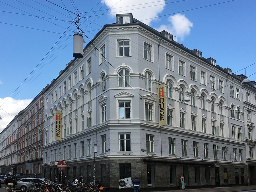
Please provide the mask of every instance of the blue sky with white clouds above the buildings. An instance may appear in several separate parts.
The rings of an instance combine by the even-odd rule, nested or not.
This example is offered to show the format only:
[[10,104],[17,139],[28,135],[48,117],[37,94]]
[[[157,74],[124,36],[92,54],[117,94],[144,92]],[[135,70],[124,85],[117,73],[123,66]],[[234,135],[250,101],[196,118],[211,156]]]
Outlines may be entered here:
[[[243,69],[237,75],[256,63],[255,0],[0,0],[0,131],[73,60],[78,11],[90,39],[104,24],[115,23],[115,14],[133,13],[221,67]],[[255,69],[256,64],[246,68],[246,75]]]

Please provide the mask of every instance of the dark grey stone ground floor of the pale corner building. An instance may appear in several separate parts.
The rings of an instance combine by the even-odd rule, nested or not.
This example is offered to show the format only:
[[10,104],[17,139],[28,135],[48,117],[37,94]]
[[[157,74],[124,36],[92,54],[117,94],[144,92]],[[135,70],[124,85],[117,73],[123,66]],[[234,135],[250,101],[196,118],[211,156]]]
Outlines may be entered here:
[[[44,177],[54,181],[60,178],[57,166],[43,165]],[[64,183],[73,177],[84,182],[93,180],[93,161],[67,162],[63,171]],[[184,176],[186,188],[248,185],[245,163],[212,162],[188,159],[157,159],[153,157],[95,160],[95,178],[110,191],[119,191],[119,179],[139,177],[141,191],[171,190],[179,188],[179,176]],[[122,191],[130,189],[122,189]]]

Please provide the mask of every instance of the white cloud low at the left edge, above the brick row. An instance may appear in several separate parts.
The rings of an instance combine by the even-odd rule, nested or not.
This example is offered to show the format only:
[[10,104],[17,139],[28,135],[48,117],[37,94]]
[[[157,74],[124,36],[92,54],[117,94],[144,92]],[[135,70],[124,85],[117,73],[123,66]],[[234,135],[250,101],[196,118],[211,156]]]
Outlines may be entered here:
[[[0,98],[1,111],[0,115],[0,132],[13,120],[13,118],[25,109],[33,99],[14,100],[10,97]],[[5,112],[5,111],[6,112]],[[8,114],[9,113],[9,114]]]

